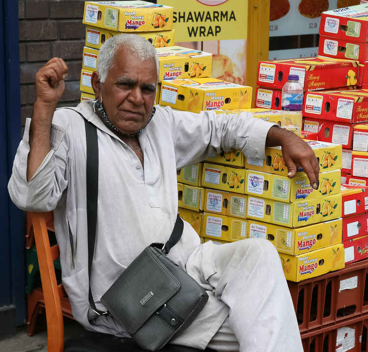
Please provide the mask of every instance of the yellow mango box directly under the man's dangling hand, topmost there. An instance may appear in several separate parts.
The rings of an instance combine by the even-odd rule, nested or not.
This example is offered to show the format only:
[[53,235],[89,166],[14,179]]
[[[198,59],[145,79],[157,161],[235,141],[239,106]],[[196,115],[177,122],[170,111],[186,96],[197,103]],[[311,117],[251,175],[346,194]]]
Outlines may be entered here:
[[[327,172],[340,170],[342,168],[342,145],[328,142],[309,141],[307,144],[315,152],[319,161],[319,171]],[[288,175],[281,147],[267,147],[265,149],[266,159],[245,158],[245,167],[256,171],[263,171],[276,175]],[[303,168],[297,165],[297,176],[305,175]]]

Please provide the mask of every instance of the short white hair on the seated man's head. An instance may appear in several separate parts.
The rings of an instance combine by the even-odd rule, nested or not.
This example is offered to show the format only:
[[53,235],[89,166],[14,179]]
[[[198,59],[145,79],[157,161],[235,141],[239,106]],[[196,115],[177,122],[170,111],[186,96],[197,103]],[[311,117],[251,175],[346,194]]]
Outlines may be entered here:
[[101,46],[97,63],[97,73],[101,83],[104,83],[109,70],[114,64],[116,50],[124,48],[141,61],[154,59],[158,76],[158,56],[154,46],[145,38],[137,34],[115,35]]

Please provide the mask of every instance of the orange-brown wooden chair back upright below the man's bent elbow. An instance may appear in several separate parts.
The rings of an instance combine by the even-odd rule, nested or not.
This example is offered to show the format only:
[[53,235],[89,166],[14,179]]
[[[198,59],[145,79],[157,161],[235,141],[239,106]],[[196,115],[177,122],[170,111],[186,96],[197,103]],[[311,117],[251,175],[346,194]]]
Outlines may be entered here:
[[47,319],[47,342],[49,352],[64,351],[64,324],[60,297],[63,287],[58,285],[53,261],[60,256],[57,245],[50,246],[48,227],[53,222],[53,212],[28,212],[27,218],[33,227],[36,242],[38,264],[45,301]]

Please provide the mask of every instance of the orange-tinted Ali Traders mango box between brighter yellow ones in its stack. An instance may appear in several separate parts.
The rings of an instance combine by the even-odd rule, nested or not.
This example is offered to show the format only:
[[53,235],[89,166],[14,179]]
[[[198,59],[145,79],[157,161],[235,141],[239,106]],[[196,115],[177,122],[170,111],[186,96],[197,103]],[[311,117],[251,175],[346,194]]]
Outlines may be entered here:
[[237,193],[206,189],[204,210],[236,218],[247,216],[247,196]]

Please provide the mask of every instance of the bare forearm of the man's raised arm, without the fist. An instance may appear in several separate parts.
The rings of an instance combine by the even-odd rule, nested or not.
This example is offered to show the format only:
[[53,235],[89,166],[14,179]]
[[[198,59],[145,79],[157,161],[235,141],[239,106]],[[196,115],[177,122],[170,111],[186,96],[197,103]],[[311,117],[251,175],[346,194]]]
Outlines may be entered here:
[[45,156],[51,151],[50,133],[55,106],[34,103],[29,132],[29,153],[27,159],[27,181],[35,174]]

